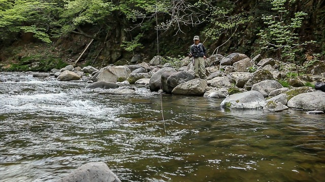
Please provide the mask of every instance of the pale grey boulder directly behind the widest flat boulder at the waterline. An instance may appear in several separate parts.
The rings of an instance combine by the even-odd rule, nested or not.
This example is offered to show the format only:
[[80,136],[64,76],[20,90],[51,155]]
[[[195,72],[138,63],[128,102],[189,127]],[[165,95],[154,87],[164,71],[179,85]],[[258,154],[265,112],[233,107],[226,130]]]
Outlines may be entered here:
[[268,97],[269,94],[275,90],[283,88],[283,86],[276,80],[263,80],[259,83],[255,83],[251,90],[256,90],[263,94],[264,97]]

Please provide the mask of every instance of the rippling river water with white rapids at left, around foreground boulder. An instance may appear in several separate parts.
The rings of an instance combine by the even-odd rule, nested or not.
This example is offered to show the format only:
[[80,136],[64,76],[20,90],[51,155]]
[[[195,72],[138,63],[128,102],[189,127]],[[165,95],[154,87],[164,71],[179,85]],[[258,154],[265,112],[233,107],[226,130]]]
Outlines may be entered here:
[[324,115],[222,109],[139,86],[98,95],[32,73],[0,80],[0,181],[55,181],[98,161],[122,181],[325,181]]

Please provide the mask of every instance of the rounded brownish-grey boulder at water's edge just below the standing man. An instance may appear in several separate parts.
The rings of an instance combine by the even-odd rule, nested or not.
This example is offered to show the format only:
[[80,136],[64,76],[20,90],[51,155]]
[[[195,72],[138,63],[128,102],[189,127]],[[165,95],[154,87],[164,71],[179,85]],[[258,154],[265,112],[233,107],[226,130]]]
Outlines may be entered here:
[[203,96],[207,86],[206,80],[197,78],[177,85],[173,89],[172,94]]

